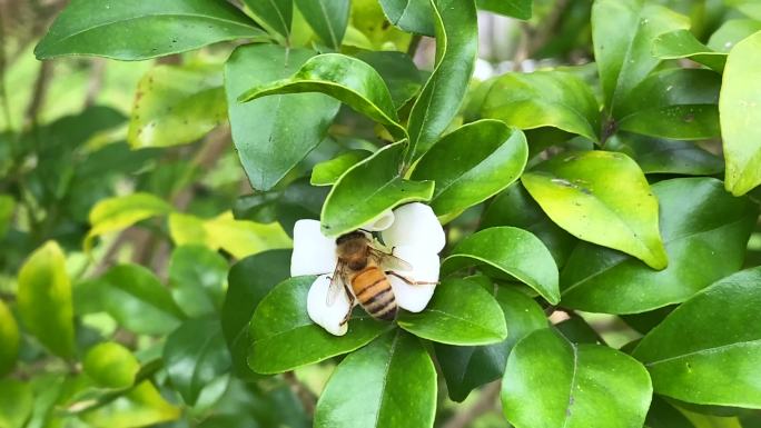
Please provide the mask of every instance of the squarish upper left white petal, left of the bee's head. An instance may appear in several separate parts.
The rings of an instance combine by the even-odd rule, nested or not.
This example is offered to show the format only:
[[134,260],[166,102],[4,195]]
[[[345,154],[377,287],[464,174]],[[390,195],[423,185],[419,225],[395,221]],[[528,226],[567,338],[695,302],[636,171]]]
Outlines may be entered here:
[[290,276],[333,273],[337,262],[336,240],[319,231],[319,221],[296,221]]

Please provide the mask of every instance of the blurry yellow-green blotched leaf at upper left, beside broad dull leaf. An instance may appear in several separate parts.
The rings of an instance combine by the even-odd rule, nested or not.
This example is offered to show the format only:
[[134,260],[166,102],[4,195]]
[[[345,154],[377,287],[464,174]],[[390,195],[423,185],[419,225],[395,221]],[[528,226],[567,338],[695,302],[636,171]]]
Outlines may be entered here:
[[185,145],[226,119],[219,67],[158,66],[138,83],[127,139],[135,149]]

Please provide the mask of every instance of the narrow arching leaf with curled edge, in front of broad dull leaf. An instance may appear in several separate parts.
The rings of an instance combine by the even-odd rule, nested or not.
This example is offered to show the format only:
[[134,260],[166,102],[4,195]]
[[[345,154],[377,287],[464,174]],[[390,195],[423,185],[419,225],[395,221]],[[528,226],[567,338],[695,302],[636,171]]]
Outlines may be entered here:
[[398,123],[394,101],[381,74],[368,63],[340,53],[313,57],[294,76],[257,84],[240,94],[238,101],[304,92],[329,94],[382,123],[395,138],[406,138],[407,133]]

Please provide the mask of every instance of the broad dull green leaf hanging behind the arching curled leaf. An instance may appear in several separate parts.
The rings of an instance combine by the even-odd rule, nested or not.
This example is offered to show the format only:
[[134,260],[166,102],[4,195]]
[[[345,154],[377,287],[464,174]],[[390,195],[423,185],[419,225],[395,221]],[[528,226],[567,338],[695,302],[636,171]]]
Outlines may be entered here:
[[340,103],[322,93],[299,93],[238,102],[259,84],[284,79],[315,52],[274,44],[238,47],[225,64],[225,91],[233,141],[248,180],[269,190],[317,147]]

